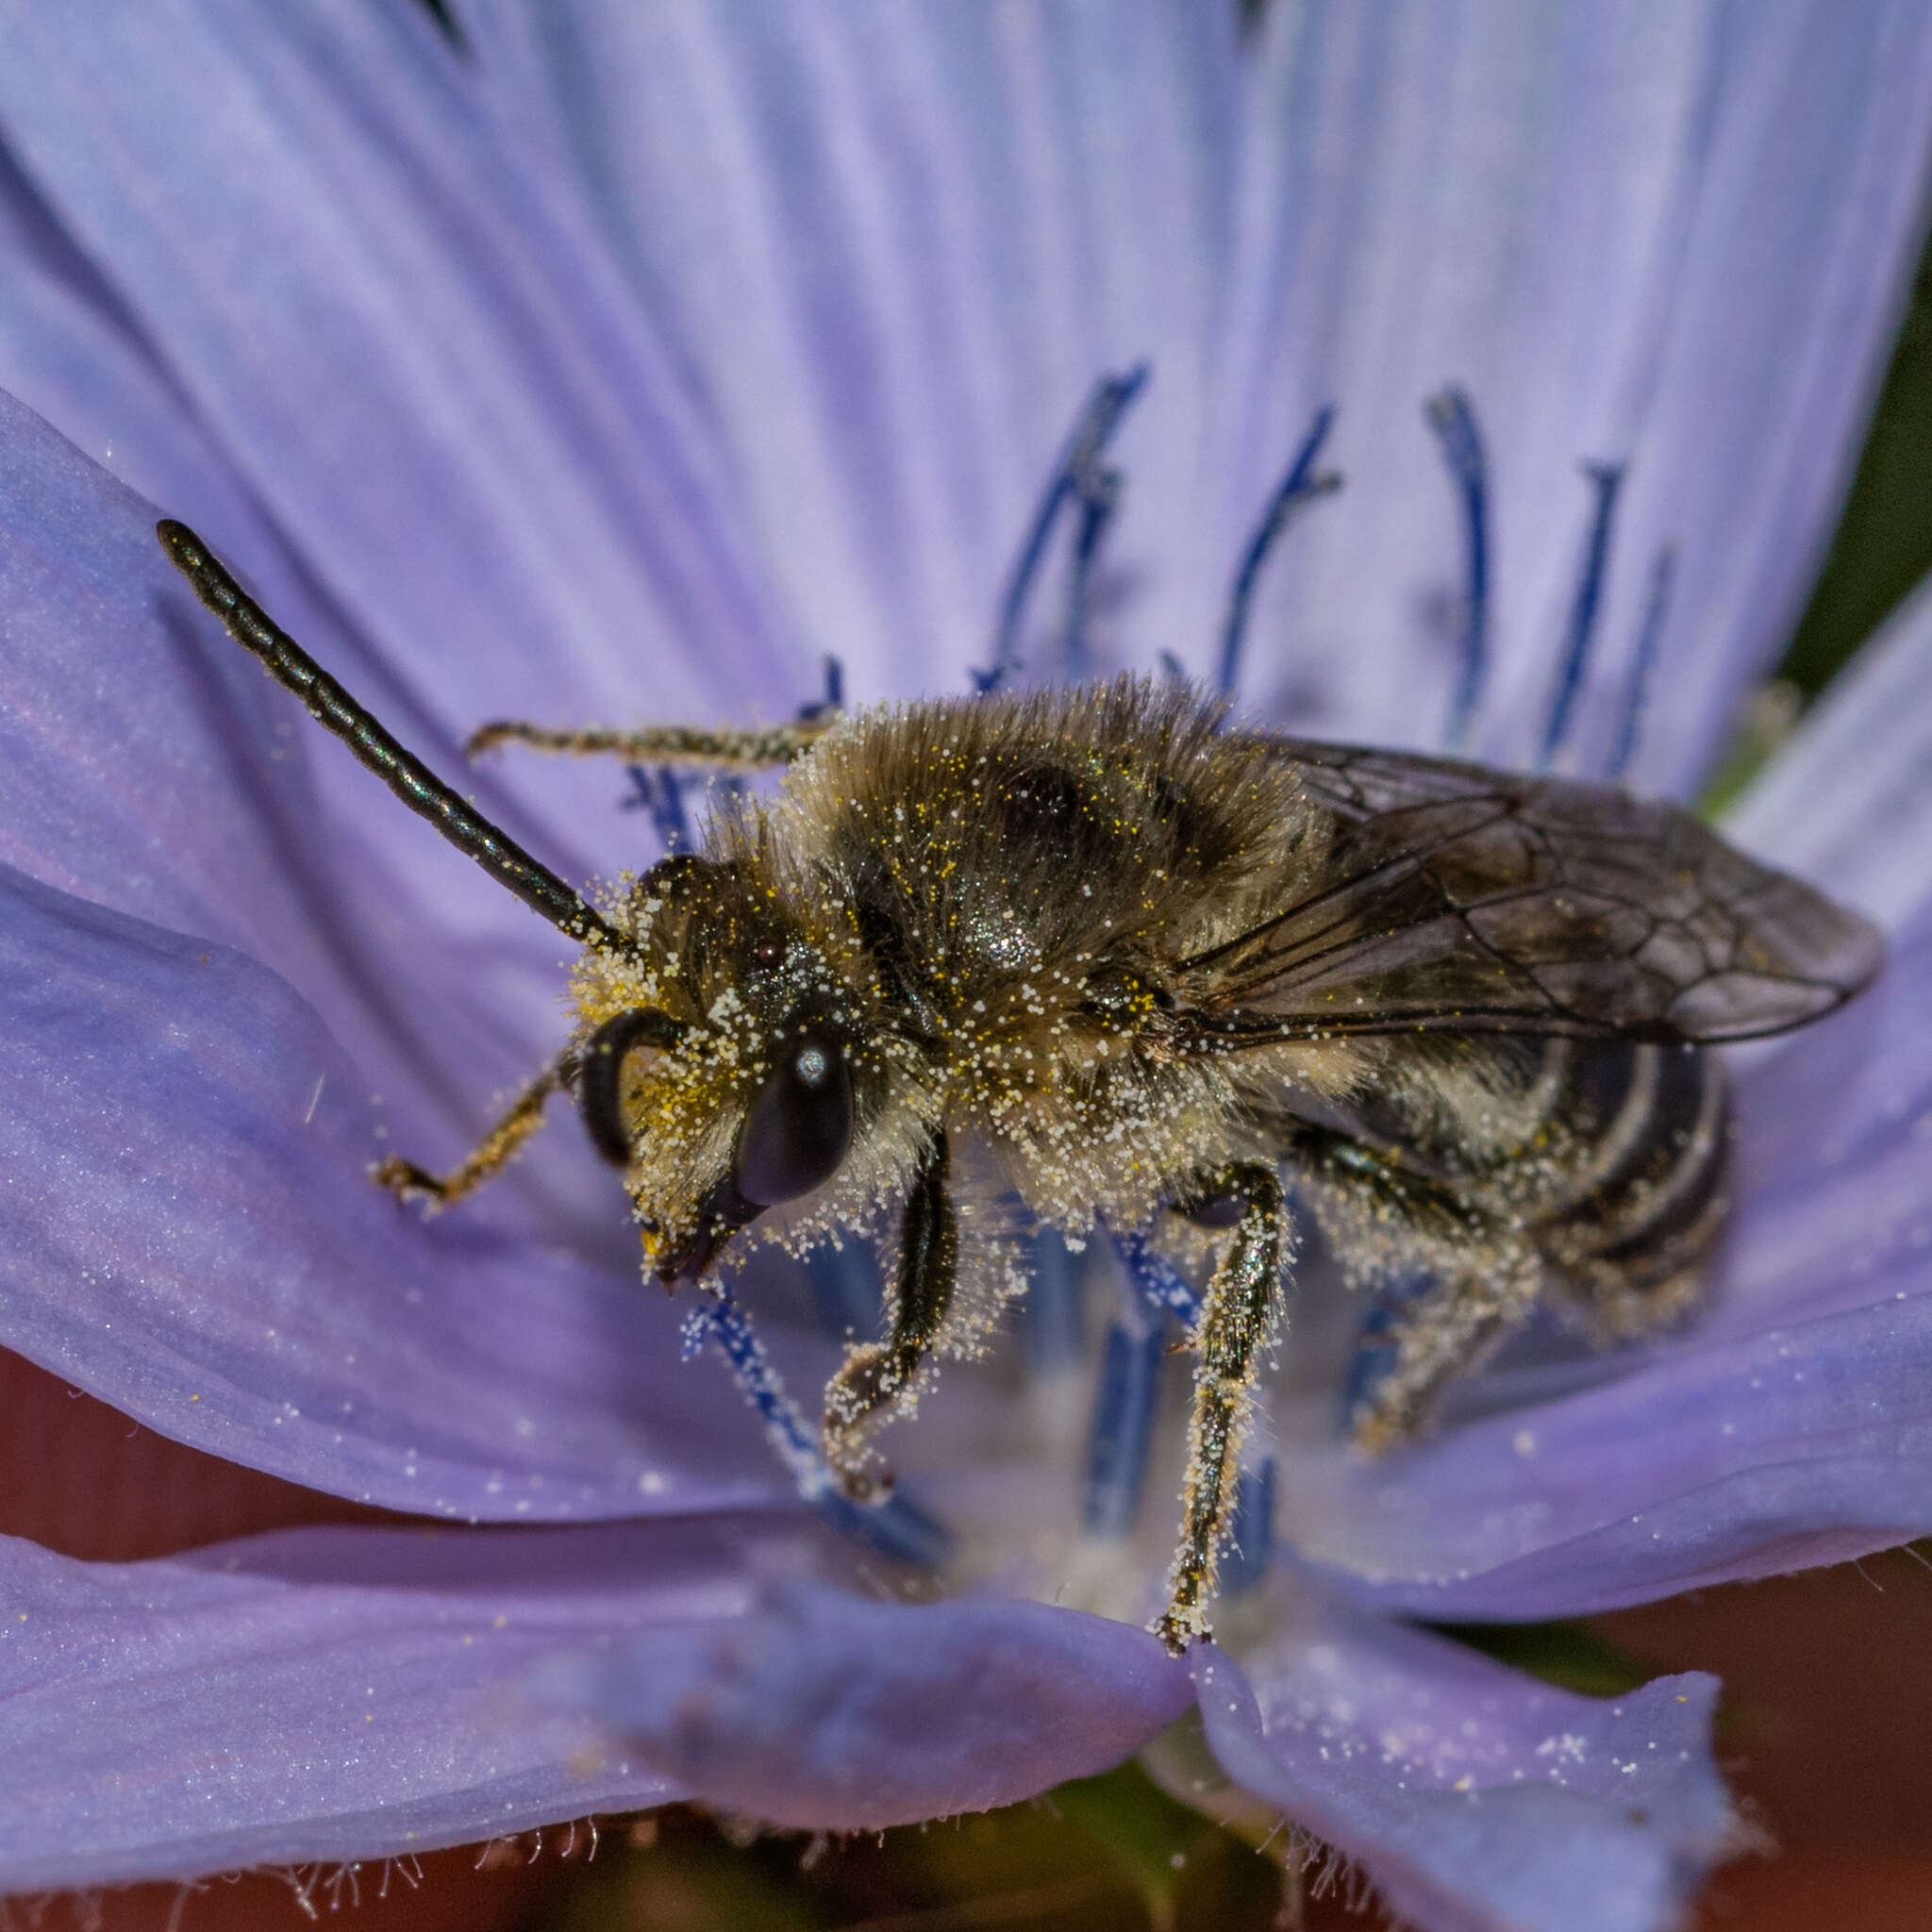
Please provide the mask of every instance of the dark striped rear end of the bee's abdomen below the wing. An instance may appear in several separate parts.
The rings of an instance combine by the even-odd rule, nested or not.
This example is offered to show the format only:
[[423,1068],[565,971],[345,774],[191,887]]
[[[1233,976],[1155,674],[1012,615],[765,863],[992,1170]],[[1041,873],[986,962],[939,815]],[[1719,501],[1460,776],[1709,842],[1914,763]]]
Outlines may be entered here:
[[1573,1047],[1551,1070],[1551,1113],[1577,1138],[1532,1235],[1605,1329],[1638,1333],[1689,1304],[1723,1231],[1723,1065],[1696,1049],[1605,1045]]

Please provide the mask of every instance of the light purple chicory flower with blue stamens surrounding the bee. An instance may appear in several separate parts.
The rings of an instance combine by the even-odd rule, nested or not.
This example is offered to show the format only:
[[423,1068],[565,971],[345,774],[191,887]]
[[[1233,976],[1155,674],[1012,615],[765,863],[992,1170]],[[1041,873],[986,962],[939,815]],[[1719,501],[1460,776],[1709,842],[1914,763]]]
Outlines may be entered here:
[[[89,0],[10,39],[0,1339],[160,1434],[477,1526],[0,1548],[0,1884],[686,1793],[873,1826],[1198,1710],[1424,1926],[1663,1924],[1725,1833],[1710,1681],[1596,1704],[1385,1613],[1577,1613],[1932,1520],[1932,879],[1889,696],[1924,622],[1741,821],[1895,954],[1748,1070],[1712,1314],[1492,1381],[1507,1406],[1379,1464],[1291,1387],[1294,1569],[1190,1671],[1051,1604],[1076,1569],[1117,1602],[1163,1542],[1080,1542],[1074,1370],[949,1370],[895,1453],[978,1588],[879,1602],[680,1364],[576,1136],[427,1227],[369,1188],[379,1136],[456,1153],[554,1049],[558,947],[315,742],[151,526],[201,527],[444,771],[493,715],[784,713],[823,651],[856,697],[960,690],[1080,398],[1146,359],[1097,661],[1211,668],[1333,402],[1349,491],[1260,580],[1246,703],[1631,750],[1683,792],[1804,587],[1918,240],[1918,12],[1277,8],[1244,39],[1151,0],[477,0],[452,46],[400,0]],[[1580,458],[1625,468],[1592,495]],[[572,877],[641,838],[580,769],[466,782]],[[831,1347],[761,1314],[810,1387]]]

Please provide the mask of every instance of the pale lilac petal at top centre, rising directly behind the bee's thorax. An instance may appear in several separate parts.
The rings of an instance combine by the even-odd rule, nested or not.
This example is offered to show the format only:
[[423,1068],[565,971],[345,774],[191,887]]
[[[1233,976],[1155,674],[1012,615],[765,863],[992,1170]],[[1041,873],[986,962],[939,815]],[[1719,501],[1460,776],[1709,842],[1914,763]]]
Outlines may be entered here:
[[[1227,272],[1233,8],[469,19],[487,85],[701,371],[794,624],[856,694],[987,661],[1082,398],[1142,357],[1109,554],[1136,587],[1171,568]],[[1169,641],[1136,639],[1142,665]]]

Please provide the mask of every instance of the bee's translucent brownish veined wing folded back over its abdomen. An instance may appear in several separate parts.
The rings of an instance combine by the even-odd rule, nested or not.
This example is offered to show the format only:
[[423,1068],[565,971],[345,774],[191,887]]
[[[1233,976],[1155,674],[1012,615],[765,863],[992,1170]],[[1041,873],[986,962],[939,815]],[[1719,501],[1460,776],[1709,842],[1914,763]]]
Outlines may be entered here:
[[1182,962],[1202,1045],[1507,1032],[1710,1043],[1803,1026],[1878,931],[1687,811],[1615,786],[1291,738],[1337,819],[1294,902]]

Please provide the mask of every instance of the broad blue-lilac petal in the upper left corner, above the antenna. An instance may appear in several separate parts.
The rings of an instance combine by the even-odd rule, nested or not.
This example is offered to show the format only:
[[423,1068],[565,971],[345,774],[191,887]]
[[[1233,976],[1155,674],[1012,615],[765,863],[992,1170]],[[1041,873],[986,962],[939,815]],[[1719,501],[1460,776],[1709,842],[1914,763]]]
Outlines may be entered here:
[[473,721],[464,690],[721,705],[779,668],[701,400],[417,8],[17,10],[0,122],[164,381],[446,719]]

